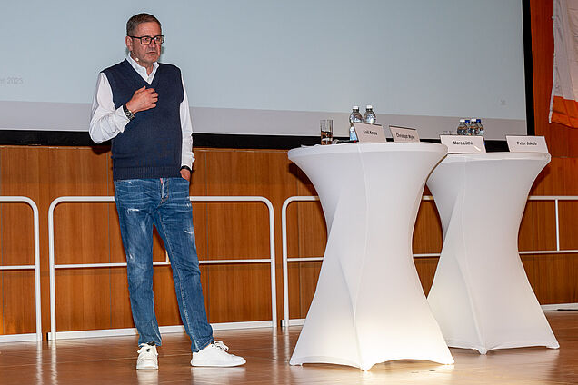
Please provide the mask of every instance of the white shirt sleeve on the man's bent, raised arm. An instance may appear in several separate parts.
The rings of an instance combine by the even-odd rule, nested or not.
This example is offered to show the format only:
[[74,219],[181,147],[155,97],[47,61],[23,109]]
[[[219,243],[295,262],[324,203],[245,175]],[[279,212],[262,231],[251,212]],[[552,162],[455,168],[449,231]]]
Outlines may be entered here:
[[115,108],[113,90],[106,75],[98,74],[88,133],[95,143],[103,143],[125,131],[129,120],[123,107]]

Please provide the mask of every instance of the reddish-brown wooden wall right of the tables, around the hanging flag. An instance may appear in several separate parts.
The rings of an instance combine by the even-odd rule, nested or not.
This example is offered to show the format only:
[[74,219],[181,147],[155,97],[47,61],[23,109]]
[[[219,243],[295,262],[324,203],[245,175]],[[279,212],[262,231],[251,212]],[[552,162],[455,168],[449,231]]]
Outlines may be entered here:
[[[534,127],[537,135],[544,135],[548,149],[553,155],[552,162],[546,166],[534,183],[533,195],[575,195],[576,188],[576,147],[578,130],[561,124],[548,123],[550,95],[553,74],[553,2],[530,0],[532,25],[533,60],[533,109]],[[572,157],[572,158],[568,158]],[[541,204],[541,205],[540,205]],[[563,205],[570,204],[565,203]],[[573,209],[564,212],[561,204],[561,244],[573,245]],[[533,207],[532,207],[533,206]],[[520,232],[521,248],[529,246],[535,250],[541,246],[555,248],[551,214],[544,210],[553,210],[553,205],[529,203],[523,218]],[[574,219],[575,221],[575,219]],[[563,230],[565,228],[569,230]],[[532,228],[532,231],[528,230]],[[549,241],[545,241],[545,238]],[[533,290],[541,303],[576,302],[576,254],[524,255],[522,260]]]

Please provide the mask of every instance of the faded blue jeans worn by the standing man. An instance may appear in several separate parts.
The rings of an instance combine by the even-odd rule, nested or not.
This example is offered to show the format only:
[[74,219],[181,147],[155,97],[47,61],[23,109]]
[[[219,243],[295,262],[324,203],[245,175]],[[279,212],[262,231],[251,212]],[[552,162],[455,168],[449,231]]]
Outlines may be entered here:
[[204,310],[189,183],[183,178],[115,181],[115,202],[138,343],[161,345],[153,300],[154,224],[171,261],[176,299],[184,330],[191,337],[191,350],[202,350],[213,341],[213,328]]

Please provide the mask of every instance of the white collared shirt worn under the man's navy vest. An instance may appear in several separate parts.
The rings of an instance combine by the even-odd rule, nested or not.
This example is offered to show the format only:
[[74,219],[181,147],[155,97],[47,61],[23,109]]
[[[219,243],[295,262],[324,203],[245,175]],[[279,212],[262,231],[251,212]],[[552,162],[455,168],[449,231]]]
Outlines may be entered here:
[[[146,74],[146,68],[139,65],[133,60],[130,54],[126,56],[126,61],[131,64],[137,74],[140,74],[145,82],[148,84],[153,83],[154,74],[156,74],[156,69],[158,68],[158,63],[153,64],[153,71],[151,74]],[[193,168],[194,155],[193,155],[193,125],[191,123],[191,113],[189,110],[189,101],[186,97],[186,89],[184,88],[183,82],[183,92],[184,98],[180,105],[180,115],[181,115],[181,131],[183,133],[183,149],[181,156],[181,165]],[[138,113],[136,113],[138,114]],[[113,102],[113,90],[108,83],[108,79],[104,73],[98,74],[98,80],[96,81],[95,97],[93,99],[93,109],[90,118],[90,128],[88,133],[95,143],[103,143],[109,139],[114,138],[119,133],[125,131],[125,126],[128,124],[129,120],[123,111],[123,107],[120,106],[115,109],[115,103]]]

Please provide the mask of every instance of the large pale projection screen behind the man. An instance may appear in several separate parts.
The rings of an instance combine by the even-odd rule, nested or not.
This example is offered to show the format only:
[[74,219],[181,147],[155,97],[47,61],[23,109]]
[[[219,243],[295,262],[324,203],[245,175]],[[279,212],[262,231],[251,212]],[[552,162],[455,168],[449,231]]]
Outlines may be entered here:
[[163,24],[194,133],[315,136],[333,118],[347,136],[365,104],[422,138],[461,117],[486,139],[527,131],[522,0],[6,1],[0,130],[87,132],[96,76],[140,12]]

